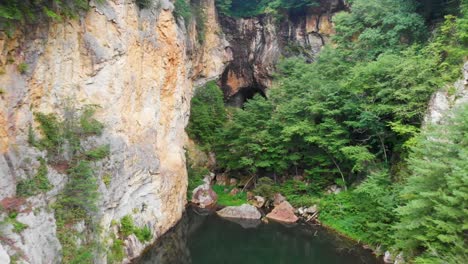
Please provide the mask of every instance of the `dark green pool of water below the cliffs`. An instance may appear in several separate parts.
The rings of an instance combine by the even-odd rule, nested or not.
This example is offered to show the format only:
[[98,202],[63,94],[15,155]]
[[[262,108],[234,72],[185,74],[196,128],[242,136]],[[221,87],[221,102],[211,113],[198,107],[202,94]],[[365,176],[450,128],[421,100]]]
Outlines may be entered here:
[[[256,223],[250,223],[253,226]],[[380,263],[369,251],[320,227],[277,223],[244,228],[192,209],[135,264]]]

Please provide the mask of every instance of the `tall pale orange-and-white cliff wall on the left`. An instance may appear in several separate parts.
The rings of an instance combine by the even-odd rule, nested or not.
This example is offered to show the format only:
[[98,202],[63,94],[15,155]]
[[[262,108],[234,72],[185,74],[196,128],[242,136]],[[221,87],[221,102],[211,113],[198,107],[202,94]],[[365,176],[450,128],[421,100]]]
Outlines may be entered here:
[[[0,201],[14,197],[16,183],[32,177],[37,158],[45,156],[27,143],[29,127],[37,125],[33,113],[61,116],[69,101],[77,107],[96,104],[96,118],[105,129],[92,141],[110,144],[111,150],[96,164],[104,235],[112,220],[132,214],[136,225],[151,227],[154,240],[184,211],[184,128],[192,87],[223,71],[225,40],[218,34],[214,0],[201,1],[207,19],[203,45],[193,23],[187,30],[176,21],[169,0],[154,0],[144,10],[134,1],[104,2],[76,20],[28,26],[12,38],[0,35]],[[28,65],[23,74],[21,63]],[[39,213],[20,211],[18,219],[29,227],[19,235],[7,232],[7,240],[1,240],[10,256],[24,256],[26,263],[60,261],[53,211],[44,208],[66,176],[48,170],[53,190],[25,205]],[[111,177],[108,186],[105,175]],[[145,247],[130,244],[129,258]]]

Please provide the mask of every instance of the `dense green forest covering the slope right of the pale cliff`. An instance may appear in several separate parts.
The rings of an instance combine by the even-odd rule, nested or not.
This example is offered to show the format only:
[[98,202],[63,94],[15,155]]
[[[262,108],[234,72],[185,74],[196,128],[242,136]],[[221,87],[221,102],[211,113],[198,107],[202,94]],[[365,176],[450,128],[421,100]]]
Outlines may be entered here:
[[[270,178],[293,205],[318,202],[319,220],[349,237],[415,263],[466,263],[468,107],[423,121],[431,95],[460,77],[468,1],[349,2],[332,44],[314,63],[283,59],[267,98],[223,108],[214,83],[199,89],[189,135],[216,170]],[[218,1],[232,16],[313,4]],[[325,195],[332,184],[346,191]]]

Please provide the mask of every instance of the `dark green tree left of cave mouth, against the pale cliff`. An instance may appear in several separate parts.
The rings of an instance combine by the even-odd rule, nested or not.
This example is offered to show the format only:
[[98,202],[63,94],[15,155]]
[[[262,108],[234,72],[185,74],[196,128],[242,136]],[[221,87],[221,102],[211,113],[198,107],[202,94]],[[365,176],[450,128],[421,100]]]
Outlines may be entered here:
[[209,149],[217,140],[226,122],[223,94],[212,81],[195,91],[192,99],[187,132],[203,149]]

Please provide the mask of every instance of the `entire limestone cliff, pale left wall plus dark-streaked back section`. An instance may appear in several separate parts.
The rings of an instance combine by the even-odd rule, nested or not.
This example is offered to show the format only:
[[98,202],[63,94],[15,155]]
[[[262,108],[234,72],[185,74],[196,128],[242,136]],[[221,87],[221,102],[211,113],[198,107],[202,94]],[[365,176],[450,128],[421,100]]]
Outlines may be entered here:
[[[146,244],[134,235],[124,242],[128,262],[182,216],[193,87],[219,79],[228,101],[241,105],[271,85],[281,56],[301,53],[313,61],[333,34],[332,16],[345,8],[343,0],[323,0],[282,20],[240,19],[218,17],[214,0],[194,0],[203,19],[183,21],[174,16],[174,1],[151,2],[140,9],[134,1],[107,0],[79,19],[0,34],[0,204],[27,225],[19,233],[11,224],[0,226],[1,263],[11,257],[60,262],[50,206],[66,184],[63,168],[48,167],[52,190],[16,197],[17,183],[33,177],[46,155],[28,143],[29,128],[38,132],[34,113],[61,116],[70,102],[99,106],[104,133],[87,143],[111,150],[95,164],[101,239],[115,234],[112,223],[128,214],[153,234]],[[203,39],[197,23],[204,24]],[[96,260],[105,261],[105,254]]]

